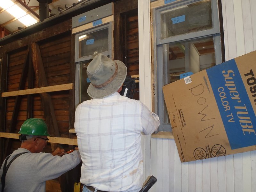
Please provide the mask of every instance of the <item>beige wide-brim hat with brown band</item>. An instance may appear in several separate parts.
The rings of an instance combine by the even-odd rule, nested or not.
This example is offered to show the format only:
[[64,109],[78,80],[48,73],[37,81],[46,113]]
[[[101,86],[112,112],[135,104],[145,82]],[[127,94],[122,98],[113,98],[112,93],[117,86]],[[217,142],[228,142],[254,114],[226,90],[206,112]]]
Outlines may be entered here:
[[102,99],[122,86],[127,68],[122,61],[113,61],[100,53],[89,63],[86,73],[91,82],[87,89],[88,95],[94,99]]

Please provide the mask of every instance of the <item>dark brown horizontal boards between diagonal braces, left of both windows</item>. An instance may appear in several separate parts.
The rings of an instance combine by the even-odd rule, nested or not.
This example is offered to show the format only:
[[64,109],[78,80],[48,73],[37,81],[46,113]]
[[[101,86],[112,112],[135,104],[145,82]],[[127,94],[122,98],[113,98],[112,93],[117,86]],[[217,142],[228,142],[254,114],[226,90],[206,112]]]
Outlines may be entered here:
[[[66,32],[41,42],[37,42],[40,47],[44,70],[48,85],[67,84],[70,82],[70,52],[71,35]],[[27,53],[27,46],[18,50],[13,50],[8,54],[8,72],[7,72],[7,92],[17,91],[20,83],[20,76]],[[74,63],[72,63],[74,65]],[[34,78],[34,87],[38,87],[36,78]],[[28,89],[28,78],[25,89]],[[57,119],[58,128],[61,137],[68,137],[69,124],[69,91],[51,92],[52,103]],[[15,97],[6,99],[6,130],[8,132],[12,112],[15,104]],[[42,102],[39,94],[33,95],[33,117],[44,118]],[[19,132],[21,124],[27,119],[27,96],[22,97],[18,121],[15,133]]]

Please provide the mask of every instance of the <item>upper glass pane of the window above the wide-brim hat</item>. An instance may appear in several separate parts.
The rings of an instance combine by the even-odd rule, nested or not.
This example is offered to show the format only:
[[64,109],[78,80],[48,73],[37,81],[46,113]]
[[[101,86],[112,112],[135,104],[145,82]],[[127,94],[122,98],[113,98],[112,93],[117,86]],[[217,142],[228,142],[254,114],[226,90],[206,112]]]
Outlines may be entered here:
[[81,34],[78,37],[78,41],[79,58],[108,52],[108,28],[101,29],[89,34]]

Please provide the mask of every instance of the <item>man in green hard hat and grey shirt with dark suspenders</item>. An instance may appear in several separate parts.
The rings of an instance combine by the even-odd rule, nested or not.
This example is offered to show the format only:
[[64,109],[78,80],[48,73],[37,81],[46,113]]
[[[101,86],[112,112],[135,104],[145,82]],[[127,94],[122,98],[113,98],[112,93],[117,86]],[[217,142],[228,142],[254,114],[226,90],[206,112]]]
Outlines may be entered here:
[[69,154],[57,148],[43,153],[48,142],[43,119],[27,119],[20,127],[21,146],[8,156],[0,169],[2,192],[45,192],[45,181],[59,177],[81,162],[78,148]]

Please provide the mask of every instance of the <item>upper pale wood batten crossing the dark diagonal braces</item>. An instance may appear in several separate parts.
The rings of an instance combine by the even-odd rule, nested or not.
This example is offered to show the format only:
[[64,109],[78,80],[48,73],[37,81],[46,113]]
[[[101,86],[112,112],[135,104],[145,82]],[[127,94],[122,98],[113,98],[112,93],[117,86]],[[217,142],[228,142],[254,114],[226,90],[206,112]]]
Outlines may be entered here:
[[2,97],[28,95],[28,94],[54,92],[54,91],[64,91],[69,89],[73,89],[72,83],[62,84],[62,85],[52,85],[47,87],[39,87],[39,88],[19,90],[19,91],[3,92]]

